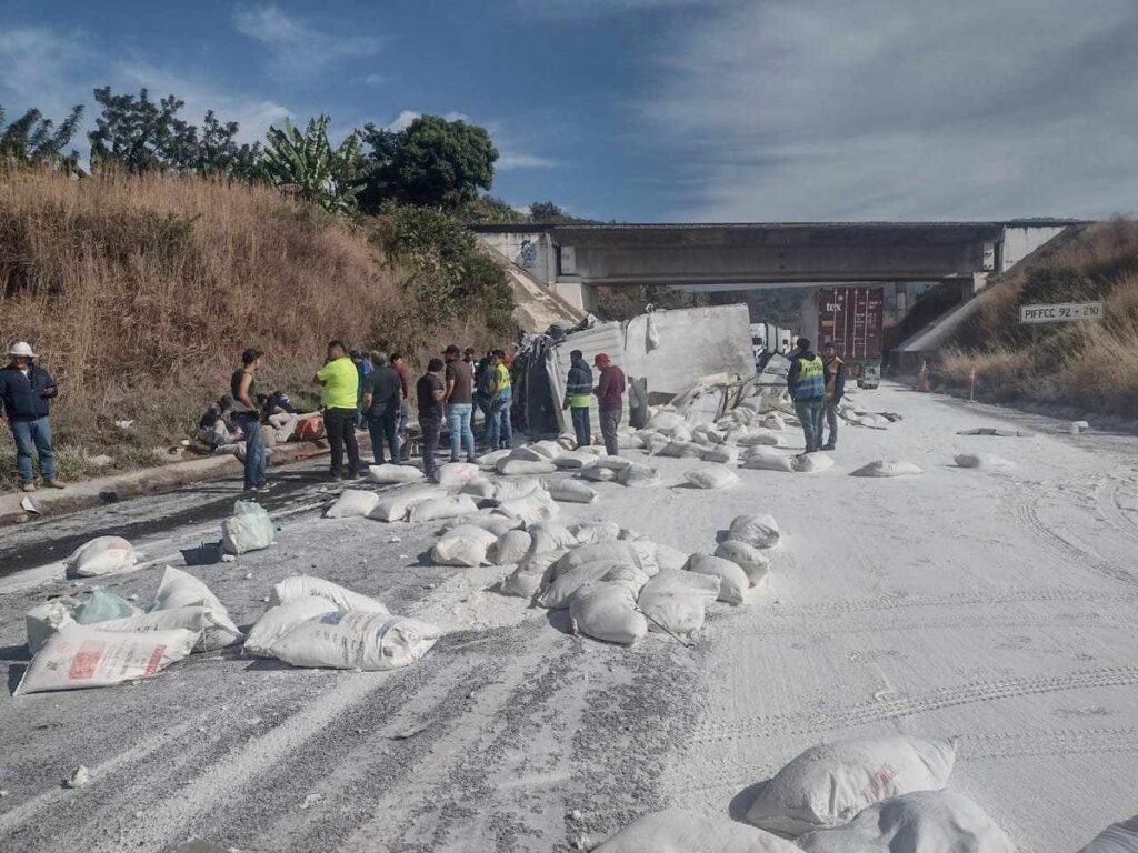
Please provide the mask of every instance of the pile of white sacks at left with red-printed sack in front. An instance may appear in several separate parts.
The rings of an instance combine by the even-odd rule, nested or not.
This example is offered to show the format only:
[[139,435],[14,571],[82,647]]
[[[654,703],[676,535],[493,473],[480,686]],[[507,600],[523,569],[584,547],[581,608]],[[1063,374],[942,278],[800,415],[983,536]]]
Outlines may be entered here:
[[191,652],[223,648],[242,637],[205,583],[171,566],[145,612],[114,594],[92,590],[33,607],[26,622],[34,656],[17,694],[150,678]]

